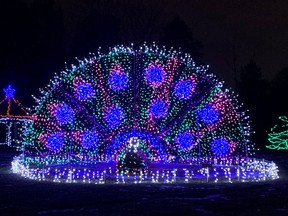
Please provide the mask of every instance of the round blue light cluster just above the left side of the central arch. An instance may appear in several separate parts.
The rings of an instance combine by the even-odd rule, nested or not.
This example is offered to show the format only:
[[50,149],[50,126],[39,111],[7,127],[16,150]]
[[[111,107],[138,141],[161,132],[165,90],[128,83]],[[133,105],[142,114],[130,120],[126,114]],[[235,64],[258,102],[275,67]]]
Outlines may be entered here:
[[118,106],[114,106],[108,109],[105,120],[109,127],[116,128],[118,127],[124,120],[124,114],[123,114],[122,108]]

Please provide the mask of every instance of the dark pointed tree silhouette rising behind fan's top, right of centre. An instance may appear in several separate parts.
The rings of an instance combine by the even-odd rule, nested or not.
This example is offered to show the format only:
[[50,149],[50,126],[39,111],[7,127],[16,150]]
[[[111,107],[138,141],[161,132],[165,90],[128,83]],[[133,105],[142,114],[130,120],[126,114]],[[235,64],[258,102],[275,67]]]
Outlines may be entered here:
[[174,18],[165,26],[163,33],[161,43],[167,47],[181,47],[181,50],[190,53],[197,63],[202,63],[203,54],[200,50],[203,45],[194,38],[192,30],[182,19]]

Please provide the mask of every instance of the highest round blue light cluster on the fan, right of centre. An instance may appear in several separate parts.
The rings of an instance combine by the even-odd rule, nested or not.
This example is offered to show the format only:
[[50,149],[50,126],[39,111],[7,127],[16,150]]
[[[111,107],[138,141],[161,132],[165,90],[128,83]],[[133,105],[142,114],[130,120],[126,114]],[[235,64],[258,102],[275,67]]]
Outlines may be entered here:
[[165,71],[159,66],[150,66],[146,70],[146,81],[149,85],[161,85],[165,78]]

